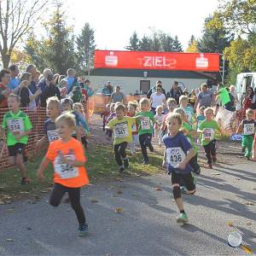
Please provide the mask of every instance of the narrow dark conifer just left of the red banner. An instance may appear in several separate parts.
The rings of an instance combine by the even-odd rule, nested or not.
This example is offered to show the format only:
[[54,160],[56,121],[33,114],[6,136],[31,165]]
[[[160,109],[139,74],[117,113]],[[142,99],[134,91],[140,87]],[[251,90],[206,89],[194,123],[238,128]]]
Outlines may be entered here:
[[78,49],[79,70],[84,71],[93,65],[93,56],[96,48],[94,29],[85,23],[81,34],[76,38]]

